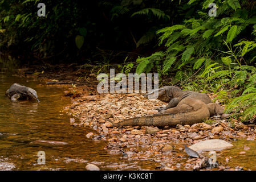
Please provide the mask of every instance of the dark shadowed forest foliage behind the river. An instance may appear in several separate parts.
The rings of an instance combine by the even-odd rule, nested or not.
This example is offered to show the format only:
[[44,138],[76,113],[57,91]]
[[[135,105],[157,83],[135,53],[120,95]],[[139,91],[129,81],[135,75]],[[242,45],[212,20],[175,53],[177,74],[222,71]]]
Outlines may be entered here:
[[115,61],[120,63],[127,52],[132,52],[131,60],[152,53],[143,46],[157,45],[156,30],[167,26],[170,17],[178,19],[178,2],[48,0],[46,17],[37,15],[39,2],[0,0],[2,52],[12,50],[25,55],[23,60],[54,58],[54,63],[56,56],[107,62],[119,53]]

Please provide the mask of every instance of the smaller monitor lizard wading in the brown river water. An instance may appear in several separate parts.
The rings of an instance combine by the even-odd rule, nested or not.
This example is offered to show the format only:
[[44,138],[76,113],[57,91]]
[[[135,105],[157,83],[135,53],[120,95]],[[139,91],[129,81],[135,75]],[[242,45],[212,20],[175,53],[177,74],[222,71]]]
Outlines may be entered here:
[[5,94],[11,98],[11,101],[13,102],[17,102],[18,100],[29,100],[31,98],[39,102],[38,96],[34,89],[16,83],[11,85]]

